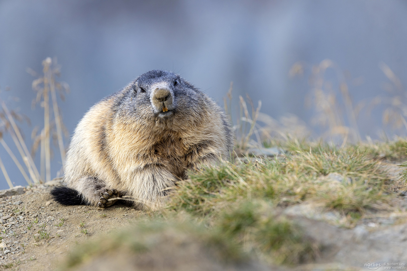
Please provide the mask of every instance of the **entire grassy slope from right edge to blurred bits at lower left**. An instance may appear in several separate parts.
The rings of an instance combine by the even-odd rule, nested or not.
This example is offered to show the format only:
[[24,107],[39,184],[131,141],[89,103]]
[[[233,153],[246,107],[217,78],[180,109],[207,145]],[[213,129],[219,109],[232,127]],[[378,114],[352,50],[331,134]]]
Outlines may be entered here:
[[[318,244],[276,210],[314,202],[337,210],[351,225],[366,212],[389,208],[395,188],[404,186],[389,177],[378,156],[404,158],[405,144],[399,140],[335,149],[297,141],[284,146],[289,154],[283,157],[223,162],[179,182],[168,206],[140,224],[144,226],[136,226],[137,235],[122,233],[105,240],[103,247],[117,247],[125,236],[127,241],[120,242],[129,247],[153,249],[140,232],[149,236],[172,228],[214,247],[223,260],[252,255],[273,264],[310,262],[318,254]],[[339,179],[328,178],[332,174]],[[101,254],[100,249],[87,251],[72,254],[69,265]]]

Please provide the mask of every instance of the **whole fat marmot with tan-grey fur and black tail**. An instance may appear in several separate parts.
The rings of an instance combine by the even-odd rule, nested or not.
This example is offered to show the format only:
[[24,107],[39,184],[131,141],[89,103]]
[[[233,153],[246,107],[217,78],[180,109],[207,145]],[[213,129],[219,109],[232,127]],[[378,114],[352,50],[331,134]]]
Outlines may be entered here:
[[152,70],[79,121],[66,154],[66,186],[51,195],[64,205],[101,208],[124,196],[155,210],[188,169],[227,159],[232,147],[228,118],[214,101],[178,74]]

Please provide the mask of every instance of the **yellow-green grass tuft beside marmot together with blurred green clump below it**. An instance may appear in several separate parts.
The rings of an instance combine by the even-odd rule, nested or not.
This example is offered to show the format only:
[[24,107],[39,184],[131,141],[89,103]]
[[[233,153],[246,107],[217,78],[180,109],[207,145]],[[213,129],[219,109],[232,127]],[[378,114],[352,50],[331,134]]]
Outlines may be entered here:
[[358,148],[321,147],[283,158],[243,160],[191,173],[177,184],[164,213],[187,212],[243,251],[293,264],[314,259],[318,246],[276,208],[314,202],[354,223],[367,210],[390,208],[395,196],[396,183],[385,168]]

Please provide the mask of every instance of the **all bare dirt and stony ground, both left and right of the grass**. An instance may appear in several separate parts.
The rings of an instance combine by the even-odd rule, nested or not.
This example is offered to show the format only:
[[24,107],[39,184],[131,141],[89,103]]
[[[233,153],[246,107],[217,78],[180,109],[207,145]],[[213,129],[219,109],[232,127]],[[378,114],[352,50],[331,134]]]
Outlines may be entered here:
[[[386,166],[394,178],[398,178],[399,167],[395,164]],[[0,270],[56,270],[76,245],[123,229],[141,217],[151,216],[120,204],[105,209],[62,206],[49,194],[50,188],[57,183],[28,187],[24,191],[21,188],[20,192],[24,192],[21,195],[1,197],[0,193]],[[392,205],[394,208],[366,215],[352,227],[340,226],[340,214],[321,206],[304,202],[284,208],[281,212],[302,225],[306,234],[318,241],[321,255],[313,264],[275,267],[273,270],[369,270],[365,264],[372,263],[380,263],[377,270],[384,270],[385,262],[407,264],[407,196],[396,197]],[[179,237],[171,238],[167,246],[157,247],[158,250],[151,251],[149,256],[134,257],[133,254],[125,257],[125,254],[114,251],[90,259],[77,270],[135,270],[135,266],[143,267],[137,270],[225,270],[217,264],[208,265],[211,258],[205,258],[201,248],[196,248],[193,243],[180,242]],[[171,260],[173,268],[168,269]],[[156,268],[160,261],[162,267]],[[262,265],[228,270],[269,268]]]

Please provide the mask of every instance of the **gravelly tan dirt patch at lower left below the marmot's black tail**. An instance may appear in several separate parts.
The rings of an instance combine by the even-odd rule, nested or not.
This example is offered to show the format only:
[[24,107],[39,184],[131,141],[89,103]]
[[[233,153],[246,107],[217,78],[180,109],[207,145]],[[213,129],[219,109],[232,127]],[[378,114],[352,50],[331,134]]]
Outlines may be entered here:
[[0,225],[0,270],[54,270],[75,244],[147,215],[120,204],[105,209],[62,206],[49,195],[48,184],[24,190],[22,195],[0,199],[4,222]]

